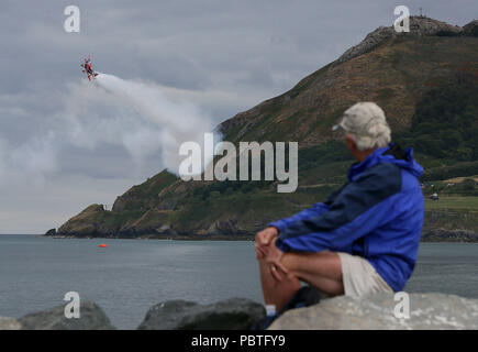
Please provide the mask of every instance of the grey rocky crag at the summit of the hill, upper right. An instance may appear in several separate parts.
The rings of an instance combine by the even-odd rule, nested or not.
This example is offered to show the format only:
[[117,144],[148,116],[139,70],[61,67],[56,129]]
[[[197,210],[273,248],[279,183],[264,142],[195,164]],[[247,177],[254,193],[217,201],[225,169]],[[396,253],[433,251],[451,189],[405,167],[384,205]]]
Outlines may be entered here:
[[349,61],[351,58],[360,56],[367,52],[369,52],[375,46],[380,43],[394,37],[402,35],[441,35],[441,36],[455,36],[460,35],[463,33],[463,29],[458,25],[452,25],[442,21],[421,18],[421,16],[411,16],[410,18],[410,32],[409,33],[397,33],[394,31],[394,26],[379,26],[374,32],[369,33],[364,41],[362,41],[358,45],[355,45],[347,50],[340,58],[338,63],[344,63]]

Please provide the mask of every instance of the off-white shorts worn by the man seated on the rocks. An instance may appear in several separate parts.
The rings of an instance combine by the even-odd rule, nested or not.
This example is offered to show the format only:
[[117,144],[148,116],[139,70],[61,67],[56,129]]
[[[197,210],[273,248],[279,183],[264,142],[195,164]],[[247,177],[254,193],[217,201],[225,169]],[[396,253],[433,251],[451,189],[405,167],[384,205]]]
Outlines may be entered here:
[[373,293],[393,293],[375,267],[359,255],[337,252],[341,258],[345,296],[363,296]]

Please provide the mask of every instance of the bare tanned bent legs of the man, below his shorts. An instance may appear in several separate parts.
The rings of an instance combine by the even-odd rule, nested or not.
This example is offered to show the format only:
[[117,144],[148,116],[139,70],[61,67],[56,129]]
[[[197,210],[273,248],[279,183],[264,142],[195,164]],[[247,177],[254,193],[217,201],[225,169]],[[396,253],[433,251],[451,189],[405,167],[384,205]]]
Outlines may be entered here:
[[269,272],[269,264],[259,261],[260,282],[266,305],[275,305],[280,310],[300,288],[300,280],[319,288],[329,296],[344,294],[342,267],[338,254],[334,252],[286,253],[281,263],[289,274],[277,282]]

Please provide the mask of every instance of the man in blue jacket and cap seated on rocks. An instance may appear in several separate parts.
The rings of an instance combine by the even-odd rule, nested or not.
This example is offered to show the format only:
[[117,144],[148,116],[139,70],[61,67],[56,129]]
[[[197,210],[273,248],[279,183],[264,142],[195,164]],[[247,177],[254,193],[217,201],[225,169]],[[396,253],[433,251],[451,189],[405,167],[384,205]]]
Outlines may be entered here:
[[280,310],[300,280],[329,296],[401,290],[415,265],[423,224],[423,168],[390,143],[383,111],[359,102],[337,125],[358,161],[347,183],[256,235],[266,305]]

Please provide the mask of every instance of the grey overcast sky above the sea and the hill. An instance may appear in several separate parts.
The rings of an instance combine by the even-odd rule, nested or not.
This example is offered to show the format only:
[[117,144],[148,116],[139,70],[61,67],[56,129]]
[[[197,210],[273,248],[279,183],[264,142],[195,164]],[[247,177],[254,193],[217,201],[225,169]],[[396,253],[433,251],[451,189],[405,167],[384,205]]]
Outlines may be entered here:
[[[64,29],[71,4],[79,33]],[[85,56],[216,125],[391,25],[397,6],[457,25],[478,13],[474,0],[1,0],[0,233],[44,233],[91,204],[111,209],[165,166],[163,144],[149,143],[160,127],[88,84]]]

